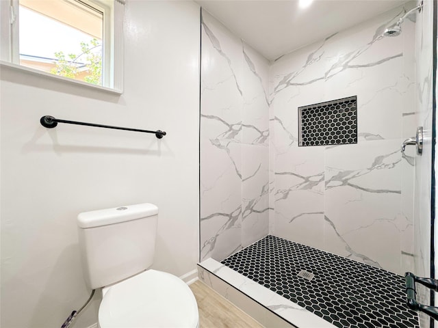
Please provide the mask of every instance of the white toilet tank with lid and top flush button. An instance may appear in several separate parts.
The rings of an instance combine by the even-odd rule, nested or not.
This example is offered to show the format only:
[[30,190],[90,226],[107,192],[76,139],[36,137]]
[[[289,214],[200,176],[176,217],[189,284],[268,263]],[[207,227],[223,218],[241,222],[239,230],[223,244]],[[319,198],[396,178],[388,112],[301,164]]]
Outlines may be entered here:
[[77,216],[86,284],[101,288],[151,267],[158,208],[136,204]]

